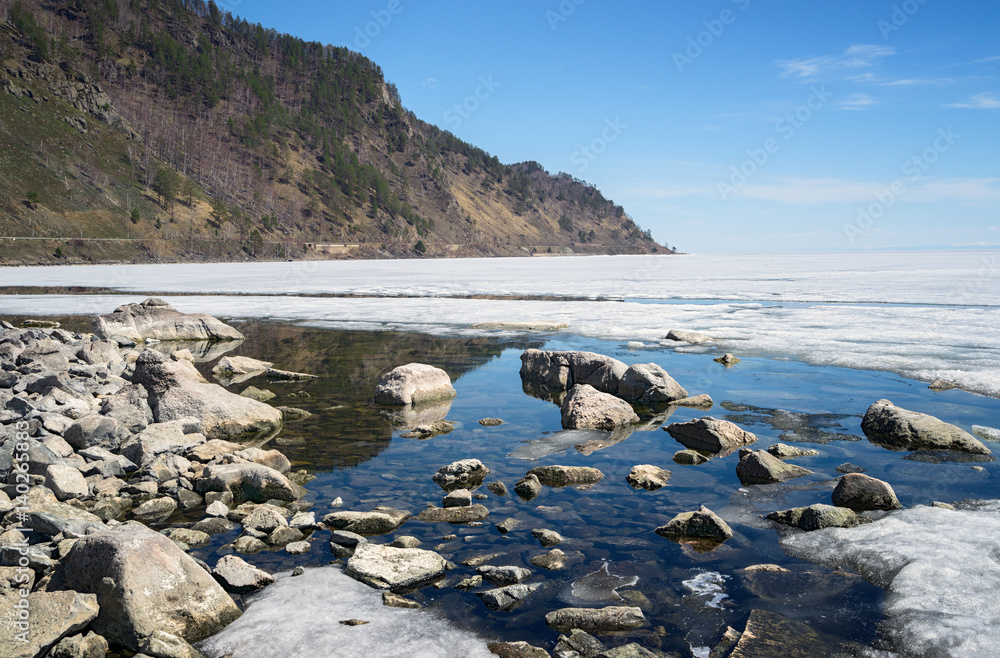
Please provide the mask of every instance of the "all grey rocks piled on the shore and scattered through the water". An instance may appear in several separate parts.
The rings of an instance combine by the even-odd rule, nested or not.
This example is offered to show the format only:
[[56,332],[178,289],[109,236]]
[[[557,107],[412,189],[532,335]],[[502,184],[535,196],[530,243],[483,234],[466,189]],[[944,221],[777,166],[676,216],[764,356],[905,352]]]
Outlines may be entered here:
[[[411,519],[407,510],[334,509],[317,520],[302,500],[310,476],[292,472],[281,452],[262,447],[283,423],[308,412],[273,407],[266,403],[267,392],[253,386],[239,395],[227,391],[199,373],[190,350],[172,349],[177,340],[212,345],[240,338],[211,316],[181,314],[158,299],[96,318],[92,334],[0,325],[0,475],[5,483],[0,493],[0,643],[13,647],[9,655],[89,657],[109,649],[154,657],[201,655],[194,645],[240,616],[241,596],[275,582],[236,554],[283,548],[301,555],[327,532],[334,557],[345,562],[344,573],[382,591],[385,606],[419,607],[406,594],[440,585],[456,570],[468,573],[454,586],[476,591],[494,611],[513,610],[543,586],[530,569],[491,564],[497,556],[460,566],[420,548],[414,537],[397,536],[389,544],[370,540],[399,529]],[[283,380],[311,376],[247,357],[223,357],[213,371],[227,385],[265,373]],[[626,366],[590,352],[527,350],[521,377],[525,390],[543,391],[560,405],[566,430],[629,431],[640,422],[633,404],[712,404],[705,395],[689,396],[656,364]],[[385,374],[374,400],[413,420],[414,436],[426,438],[450,431],[448,421],[433,410],[447,413],[442,402],[454,395],[443,370],[403,364]],[[783,444],[753,450],[757,438],[725,420],[705,416],[664,429],[685,447],[674,455],[678,464],[739,452],[736,472],[746,486],[811,473],[786,460],[815,451]],[[990,453],[959,428],[886,400],[871,406],[862,429],[872,443],[888,449]],[[476,501],[488,495],[477,489],[485,485],[494,496],[509,495],[503,482],[487,482],[489,473],[487,465],[471,458],[442,467],[433,475],[442,490],[440,507],[412,518],[482,525],[489,509]],[[587,487],[605,476],[594,468],[549,465],[528,470],[512,489],[530,501],[542,487]],[[636,464],[616,477],[636,490],[655,491],[670,476],[660,466]],[[768,518],[808,532],[853,528],[900,507],[888,483],[858,473],[839,479],[831,503],[778,510]],[[161,532],[150,528],[177,510],[201,519]],[[516,523],[506,519],[496,527],[506,533]],[[234,554],[215,565],[188,554],[213,535],[237,528],[241,533],[230,546]],[[677,514],[656,533],[698,551],[714,550],[733,537],[726,521],[704,506]],[[582,557],[558,548],[563,538],[555,531],[532,534],[548,549],[531,560],[543,572]],[[729,629],[712,655],[751,655],[747,651],[767,641],[770,632],[787,632],[787,620],[755,612],[747,631]],[[336,621],[364,625],[371,620]],[[625,632],[621,637],[627,639],[627,632],[648,627],[638,606],[562,608],[550,611],[545,622],[560,634],[552,654],[524,642],[492,643],[490,650],[532,658],[668,655],[635,641],[595,637]]]

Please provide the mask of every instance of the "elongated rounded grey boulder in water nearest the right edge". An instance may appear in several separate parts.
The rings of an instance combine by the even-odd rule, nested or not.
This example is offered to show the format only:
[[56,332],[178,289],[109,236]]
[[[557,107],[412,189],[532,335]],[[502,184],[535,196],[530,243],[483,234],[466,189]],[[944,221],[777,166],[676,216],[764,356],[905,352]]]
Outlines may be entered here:
[[988,455],[990,449],[965,430],[917,411],[879,400],[868,407],[861,430],[875,445],[890,450],[957,450]]

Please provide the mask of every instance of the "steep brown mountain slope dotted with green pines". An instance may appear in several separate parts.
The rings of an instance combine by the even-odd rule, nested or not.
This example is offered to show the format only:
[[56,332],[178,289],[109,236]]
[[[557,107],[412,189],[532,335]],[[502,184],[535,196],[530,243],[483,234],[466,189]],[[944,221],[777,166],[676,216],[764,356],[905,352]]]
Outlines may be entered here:
[[35,238],[5,262],[665,251],[583,181],[419,120],[346,48],[200,0],[0,7],[0,235]]

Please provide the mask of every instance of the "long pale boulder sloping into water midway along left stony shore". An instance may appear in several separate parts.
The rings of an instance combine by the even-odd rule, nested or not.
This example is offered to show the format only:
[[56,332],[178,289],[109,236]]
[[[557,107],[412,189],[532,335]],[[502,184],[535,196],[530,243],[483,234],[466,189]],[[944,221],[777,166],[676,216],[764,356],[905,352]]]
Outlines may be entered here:
[[274,407],[209,383],[190,361],[168,361],[155,350],[145,350],[136,359],[132,381],[146,388],[158,423],[195,416],[210,439],[281,427],[281,412]]

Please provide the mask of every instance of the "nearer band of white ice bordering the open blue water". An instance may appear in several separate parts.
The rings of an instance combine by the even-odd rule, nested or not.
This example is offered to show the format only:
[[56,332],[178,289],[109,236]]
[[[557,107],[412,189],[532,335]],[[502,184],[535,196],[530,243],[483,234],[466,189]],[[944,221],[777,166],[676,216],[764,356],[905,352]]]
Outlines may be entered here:
[[[0,296],[2,315],[99,314],[137,296]],[[737,356],[886,370],[1000,397],[1000,308],[851,304],[643,304],[453,298],[171,297],[178,309],[224,318],[270,318],[344,329],[473,335],[478,322],[556,320],[565,331],[661,342],[679,327],[716,337]],[[663,345],[676,343],[667,341]]]

